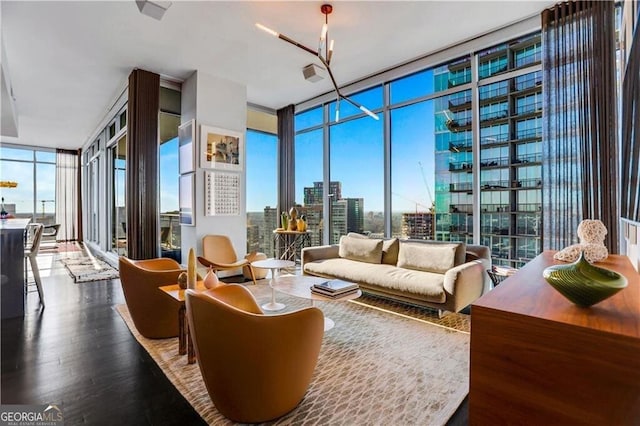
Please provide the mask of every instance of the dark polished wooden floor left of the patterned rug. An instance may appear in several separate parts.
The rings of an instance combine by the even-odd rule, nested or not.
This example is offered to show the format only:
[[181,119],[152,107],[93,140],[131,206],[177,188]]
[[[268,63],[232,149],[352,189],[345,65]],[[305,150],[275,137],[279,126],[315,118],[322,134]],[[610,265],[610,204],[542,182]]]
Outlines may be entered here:
[[2,320],[1,403],[60,404],[66,425],[205,424],[115,311],[120,282],[75,284],[60,256],[38,257],[46,308],[30,293],[24,318]]

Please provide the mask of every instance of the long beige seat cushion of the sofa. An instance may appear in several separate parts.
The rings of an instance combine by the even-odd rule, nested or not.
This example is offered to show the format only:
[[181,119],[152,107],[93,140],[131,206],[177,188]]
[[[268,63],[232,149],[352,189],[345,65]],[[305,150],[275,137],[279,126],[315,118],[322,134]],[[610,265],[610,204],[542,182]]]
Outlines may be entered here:
[[356,282],[363,287],[384,288],[390,292],[404,292],[432,303],[444,303],[444,275],[414,271],[392,265],[372,265],[349,259],[324,259],[304,264],[304,272],[323,277]]

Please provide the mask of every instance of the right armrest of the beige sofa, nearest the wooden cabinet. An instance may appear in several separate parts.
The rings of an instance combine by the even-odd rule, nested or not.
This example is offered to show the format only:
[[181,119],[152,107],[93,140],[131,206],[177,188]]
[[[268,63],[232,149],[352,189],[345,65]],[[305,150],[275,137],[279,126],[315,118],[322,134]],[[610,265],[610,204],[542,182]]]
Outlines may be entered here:
[[444,274],[444,290],[454,299],[454,311],[458,312],[482,295],[485,269],[481,260],[463,263]]

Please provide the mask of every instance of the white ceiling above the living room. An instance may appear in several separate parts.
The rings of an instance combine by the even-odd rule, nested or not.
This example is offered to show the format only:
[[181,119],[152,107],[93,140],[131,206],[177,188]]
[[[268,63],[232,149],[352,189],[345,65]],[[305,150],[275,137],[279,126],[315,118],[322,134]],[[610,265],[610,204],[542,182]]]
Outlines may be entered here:
[[[277,109],[331,90],[304,80],[313,56],[255,27],[312,48],[323,2],[174,1],[162,21],[128,1],[2,1],[2,40],[19,119],[4,142],[79,148],[133,68],[187,78],[194,70],[246,85],[250,103]],[[358,80],[535,15],[550,1],[334,1],[332,70]]]

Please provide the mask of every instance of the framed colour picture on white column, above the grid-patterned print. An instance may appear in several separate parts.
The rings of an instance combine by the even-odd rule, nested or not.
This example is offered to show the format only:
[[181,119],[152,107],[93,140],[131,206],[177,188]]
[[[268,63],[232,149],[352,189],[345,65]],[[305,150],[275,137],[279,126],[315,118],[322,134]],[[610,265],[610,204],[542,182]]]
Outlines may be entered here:
[[241,132],[200,126],[200,167],[242,170],[244,136]]

